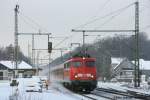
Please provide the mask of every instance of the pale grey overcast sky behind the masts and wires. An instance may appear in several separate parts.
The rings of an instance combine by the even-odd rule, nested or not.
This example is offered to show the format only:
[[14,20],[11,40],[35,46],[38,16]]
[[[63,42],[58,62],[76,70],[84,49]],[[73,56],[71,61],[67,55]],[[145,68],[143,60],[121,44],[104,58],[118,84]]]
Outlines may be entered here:
[[[82,43],[82,34],[73,33],[71,29],[100,18],[117,9],[126,7],[136,0],[0,0],[0,46],[14,44],[14,7],[19,4],[19,32],[50,32],[53,36],[70,36],[57,48],[69,47],[71,42]],[[150,0],[140,1],[140,28],[150,32]],[[119,13],[113,20],[112,16],[97,20],[78,29],[133,29],[134,5]],[[109,21],[110,20],[110,21]],[[108,22],[107,22],[108,21]],[[107,22],[107,23],[105,23]],[[105,23],[105,24],[104,24]],[[104,24],[104,25],[103,25]],[[73,34],[73,35],[72,35]],[[93,33],[95,34],[95,33]],[[87,37],[86,42],[94,41],[95,37]],[[46,37],[36,37],[36,48],[47,47]],[[53,39],[54,45],[62,39]],[[28,54],[30,36],[19,36],[19,45]],[[60,52],[54,51],[54,55]]]

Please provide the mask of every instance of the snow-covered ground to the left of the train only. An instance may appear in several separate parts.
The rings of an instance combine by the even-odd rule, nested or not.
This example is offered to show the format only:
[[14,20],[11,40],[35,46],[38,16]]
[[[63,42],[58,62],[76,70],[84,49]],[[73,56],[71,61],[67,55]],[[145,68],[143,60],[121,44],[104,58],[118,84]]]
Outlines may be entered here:
[[18,90],[18,100],[88,100],[86,97],[71,92],[62,84],[50,83],[49,89],[43,92],[26,92],[25,87],[30,78],[18,79],[18,87],[10,87],[9,81],[0,82],[0,100],[9,100],[9,96]]

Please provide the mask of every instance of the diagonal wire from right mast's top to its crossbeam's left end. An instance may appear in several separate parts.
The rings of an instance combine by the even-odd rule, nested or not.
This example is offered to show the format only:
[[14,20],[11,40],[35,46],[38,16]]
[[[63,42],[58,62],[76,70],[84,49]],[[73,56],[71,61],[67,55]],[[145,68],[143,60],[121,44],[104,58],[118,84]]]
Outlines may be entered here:
[[[127,9],[127,8],[129,8],[130,6],[132,6],[132,5],[134,5],[134,3],[132,3],[132,4],[128,5],[128,6],[126,6],[126,7],[123,7],[123,8],[121,8],[121,9],[118,9],[118,10],[116,10],[116,11],[113,11],[113,12],[111,12],[111,13],[109,13],[109,14],[106,14],[106,15],[104,15],[104,16],[102,16],[102,17],[99,17],[99,18],[96,18],[96,19],[94,19],[94,20],[91,20],[91,21],[89,21],[89,22],[87,22],[87,23],[85,23],[85,24],[83,24],[83,25],[80,25],[80,26],[77,27],[77,28],[84,27],[84,26],[86,26],[86,25],[88,25],[88,24],[91,24],[91,23],[97,21],[97,20],[104,19],[104,18],[106,18],[106,17],[108,17],[108,16],[110,16],[110,15],[112,15],[112,14],[115,14],[115,13],[117,13],[117,12],[123,11],[124,9]],[[75,28],[75,29],[77,29],[77,28]]]

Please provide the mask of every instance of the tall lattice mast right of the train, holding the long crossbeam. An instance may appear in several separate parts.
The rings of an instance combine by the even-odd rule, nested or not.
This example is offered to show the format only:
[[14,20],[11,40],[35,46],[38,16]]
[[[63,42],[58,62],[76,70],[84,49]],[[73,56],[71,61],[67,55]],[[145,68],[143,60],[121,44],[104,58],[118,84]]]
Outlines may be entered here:
[[140,87],[140,69],[139,69],[139,2],[135,2],[135,77],[134,87]]

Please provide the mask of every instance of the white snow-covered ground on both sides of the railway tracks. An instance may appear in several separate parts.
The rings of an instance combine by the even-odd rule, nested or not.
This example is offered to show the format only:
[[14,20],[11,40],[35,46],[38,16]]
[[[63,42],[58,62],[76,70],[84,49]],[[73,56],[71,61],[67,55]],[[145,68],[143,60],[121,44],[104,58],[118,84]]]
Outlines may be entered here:
[[[26,92],[26,79],[19,79],[18,87],[10,87],[9,81],[0,81],[0,100],[10,100],[10,96],[18,95],[18,100],[87,100],[78,94],[75,94],[61,84],[51,83],[49,89],[43,89],[43,92]],[[150,89],[147,84],[141,84],[141,88],[135,89],[125,83],[104,83],[98,82],[98,87],[112,88],[121,91],[132,90],[141,93],[150,94]],[[17,89],[18,88],[18,89]],[[103,99],[100,99],[103,100]]]

